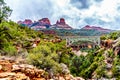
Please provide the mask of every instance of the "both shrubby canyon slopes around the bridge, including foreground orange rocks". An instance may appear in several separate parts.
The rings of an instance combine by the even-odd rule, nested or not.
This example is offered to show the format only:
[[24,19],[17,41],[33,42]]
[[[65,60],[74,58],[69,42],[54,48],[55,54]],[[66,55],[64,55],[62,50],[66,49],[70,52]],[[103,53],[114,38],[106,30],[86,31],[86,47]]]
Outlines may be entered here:
[[[81,77],[82,79],[119,80],[119,37],[119,31],[103,35],[100,47],[86,48],[83,51],[87,52],[87,55],[77,56],[72,53],[70,47],[66,47],[65,41],[57,35],[34,31],[12,21],[2,22],[0,24],[0,74],[7,76],[24,75],[24,77],[31,79],[32,73],[26,74],[27,70],[23,70],[23,68],[30,68],[33,65],[36,68],[32,68],[38,72],[39,70],[43,71],[40,73],[41,77],[34,76],[35,80],[38,78],[44,78],[43,80],[78,80]],[[10,70],[4,64],[11,66]],[[20,67],[25,64],[28,65]],[[19,71],[21,68],[22,72]],[[36,73],[36,71],[33,72]]]

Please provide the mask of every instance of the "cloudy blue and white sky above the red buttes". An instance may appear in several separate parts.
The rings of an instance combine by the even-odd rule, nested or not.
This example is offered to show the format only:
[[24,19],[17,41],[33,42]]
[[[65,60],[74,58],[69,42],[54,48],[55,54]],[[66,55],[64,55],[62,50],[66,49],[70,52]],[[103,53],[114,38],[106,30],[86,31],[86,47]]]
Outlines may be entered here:
[[55,24],[59,18],[73,28],[85,25],[120,30],[120,0],[5,0],[13,10],[13,21],[49,18]]

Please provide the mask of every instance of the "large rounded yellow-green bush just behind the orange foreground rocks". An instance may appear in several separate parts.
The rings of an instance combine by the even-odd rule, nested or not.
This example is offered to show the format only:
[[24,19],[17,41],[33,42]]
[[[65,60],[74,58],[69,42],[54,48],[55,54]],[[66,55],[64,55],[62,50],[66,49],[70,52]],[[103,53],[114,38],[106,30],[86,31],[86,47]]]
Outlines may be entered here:
[[[51,45],[47,45],[49,43]],[[59,55],[55,50],[52,51],[51,49],[55,44],[51,42],[44,43],[44,45],[41,44],[30,51],[28,62],[48,72],[52,71],[54,74],[61,72]]]

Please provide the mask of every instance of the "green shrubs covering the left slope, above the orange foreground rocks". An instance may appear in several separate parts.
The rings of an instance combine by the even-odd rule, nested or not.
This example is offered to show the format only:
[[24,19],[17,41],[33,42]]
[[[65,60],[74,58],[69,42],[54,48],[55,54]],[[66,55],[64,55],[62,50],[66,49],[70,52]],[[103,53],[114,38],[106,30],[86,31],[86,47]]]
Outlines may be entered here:
[[[40,38],[40,43],[33,48],[33,42]],[[46,40],[44,40],[46,39]],[[67,48],[66,41],[52,42],[55,36],[44,35],[28,27],[22,27],[12,21],[5,21],[0,24],[0,54],[8,56],[21,56],[25,51],[28,54],[28,63],[47,72],[62,73],[60,63],[70,66],[70,60],[74,55],[71,48]],[[19,46],[21,45],[21,46]],[[17,50],[20,47],[20,51]]]

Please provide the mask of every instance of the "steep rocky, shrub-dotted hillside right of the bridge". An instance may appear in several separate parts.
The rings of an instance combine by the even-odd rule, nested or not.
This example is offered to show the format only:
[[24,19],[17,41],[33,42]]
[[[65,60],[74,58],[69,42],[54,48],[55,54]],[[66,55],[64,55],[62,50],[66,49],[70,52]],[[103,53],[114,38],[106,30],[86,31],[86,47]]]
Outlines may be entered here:
[[120,79],[119,31],[101,36],[101,46],[98,49],[82,49],[82,51],[88,54],[73,59],[71,70],[74,75],[93,80]]

